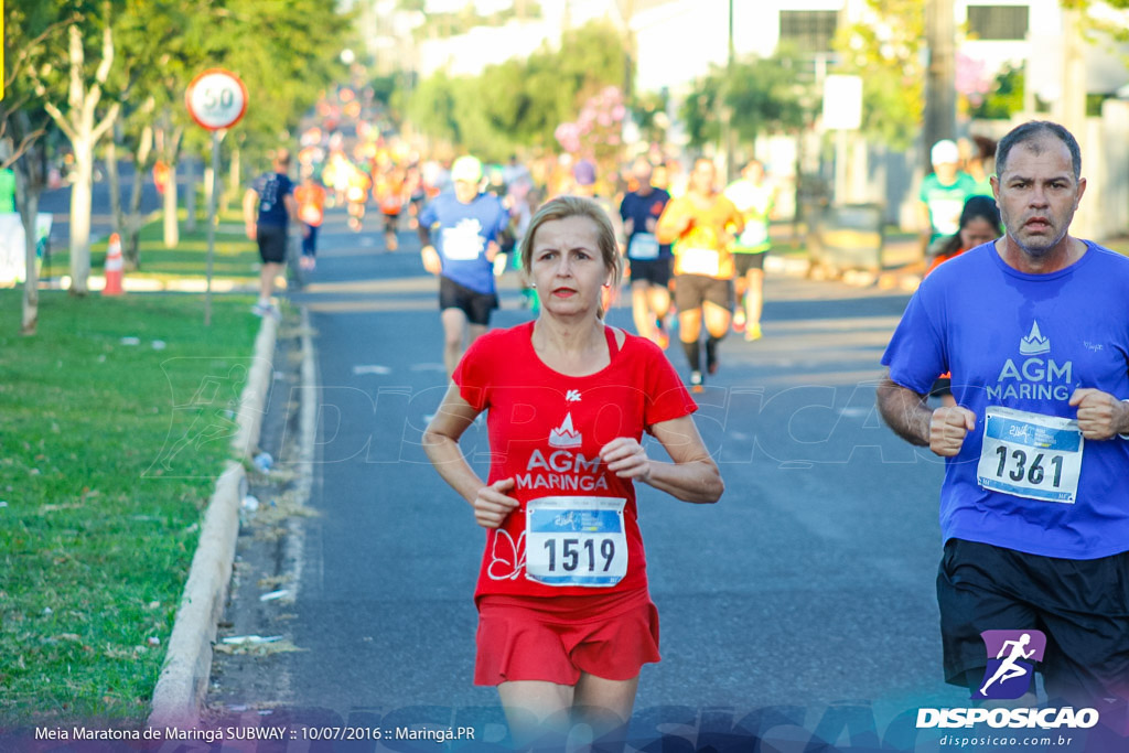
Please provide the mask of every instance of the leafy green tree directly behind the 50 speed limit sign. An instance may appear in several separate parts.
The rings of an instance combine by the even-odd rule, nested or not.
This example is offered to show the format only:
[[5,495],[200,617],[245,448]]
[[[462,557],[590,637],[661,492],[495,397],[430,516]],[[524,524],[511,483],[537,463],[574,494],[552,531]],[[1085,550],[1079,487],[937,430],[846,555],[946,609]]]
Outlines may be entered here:
[[181,156],[184,151],[205,156],[207,164],[210,155],[210,133],[196,128],[184,107],[192,78],[208,68],[235,72],[251,102],[237,132],[228,133],[225,143],[235,145],[235,154],[274,148],[287,140],[324,87],[340,77],[338,49],[323,41],[347,44],[351,17],[327,10],[317,0],[150,0],[131,5],[131,11],[120,21],[123,44],[135,53],[121,69],[126,140],[137,167],[124,255],[137,264],[140,181],[156,160],[168,166],[164,230],[165,245],[174,246],[180,236]]

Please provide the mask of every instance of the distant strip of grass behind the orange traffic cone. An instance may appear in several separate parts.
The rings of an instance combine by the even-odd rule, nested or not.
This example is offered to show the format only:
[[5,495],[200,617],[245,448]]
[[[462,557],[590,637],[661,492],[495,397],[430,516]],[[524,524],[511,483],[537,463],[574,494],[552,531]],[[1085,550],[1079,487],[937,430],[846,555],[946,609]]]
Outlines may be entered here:
[[[208,228],[203,219],[196,222],[193,233],[185,233],[183,210],[181,225],[181,243],[175,248],[165,247],[165,231],[158,217],[147,222],[140,233],[138,255],[141,266],[137,271],[126,272],[130,277],[163,279],[172,277],[198,277],[207,274],[208,264]],[[259,277],[259,251],[243,234],[243,221],[238,214],[227,213],[220,217],[221,225],[216,233],[216,255],[212,261],[212,275],[216,278],[253,280]],[[238,226],[237,233],[221,233]],[[90,246],[90,268],[94,274],[102,274],[106,259],[106,240],[99,240]],[[53,248],[50,263],[41,271],[42,277],[59,278],[70,274],[70,252],[65,245]]]

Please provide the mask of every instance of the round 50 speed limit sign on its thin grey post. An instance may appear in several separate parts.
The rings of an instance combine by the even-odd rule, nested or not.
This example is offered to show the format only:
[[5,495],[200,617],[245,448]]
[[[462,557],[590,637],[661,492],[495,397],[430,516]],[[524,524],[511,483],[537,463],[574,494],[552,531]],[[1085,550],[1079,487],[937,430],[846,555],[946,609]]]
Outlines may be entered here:
[[[204,326],[211,326],[211,278],[216,257],[216,181],[219,142],[224,133],[247,112],[247,87],[235,73],[211,68],[199,73],[184,95],[189,114],[212,134],[212,187],[208,192],[208,288],[204,292]],[[190,191],[194,190],[191,186]]]

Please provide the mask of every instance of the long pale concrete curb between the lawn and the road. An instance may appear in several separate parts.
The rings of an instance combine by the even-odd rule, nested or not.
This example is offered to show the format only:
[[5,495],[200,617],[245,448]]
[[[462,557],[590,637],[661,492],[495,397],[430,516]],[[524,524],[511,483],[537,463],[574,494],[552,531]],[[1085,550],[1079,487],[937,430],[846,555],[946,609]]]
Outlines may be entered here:
[[[239,399],[238,431],[233,447],[247,458],[259,441],[266,393],[274,375],[278,322],[264,316],[255,339],[255,358]],[[247,488],[243,463],[229,461],[216,481],[208,502],[200,543],[192,558],[168,639],[165,664],[152,694],[151,728],[193,727],[211,676],[212,642],[231,580],[235,543],[239,534],[239,505]]]

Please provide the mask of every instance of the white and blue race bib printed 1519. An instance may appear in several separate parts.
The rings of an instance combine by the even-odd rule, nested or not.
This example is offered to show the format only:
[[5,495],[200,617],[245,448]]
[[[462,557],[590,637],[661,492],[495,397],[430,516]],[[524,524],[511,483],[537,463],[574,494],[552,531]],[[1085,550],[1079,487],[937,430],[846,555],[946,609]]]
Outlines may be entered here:
[[525,571],[549,586],[607,587],[628,568],[623,499],[543,497],[525,507]]

